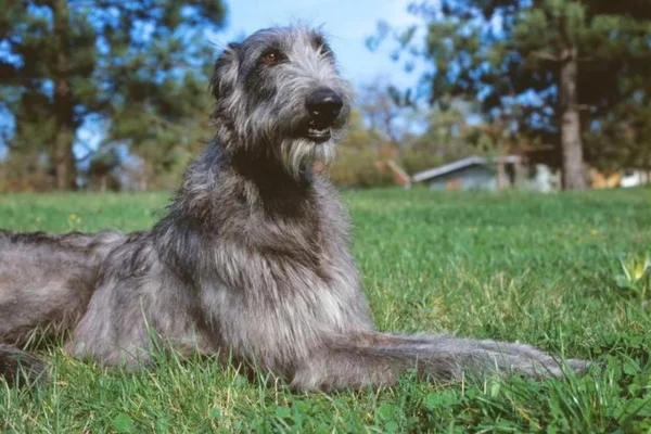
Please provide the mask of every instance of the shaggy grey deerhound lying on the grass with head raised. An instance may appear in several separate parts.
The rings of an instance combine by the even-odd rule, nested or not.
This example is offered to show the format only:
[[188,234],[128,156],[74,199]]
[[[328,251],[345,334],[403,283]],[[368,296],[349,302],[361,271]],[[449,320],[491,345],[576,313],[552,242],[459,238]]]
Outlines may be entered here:
[[[529,345],[374,329],[348,252],[348,216],[314,170],[344,133],[352,89],[322,34],[259,30],[215,63],[214,141],[165,217],[123,234],[0,232],[0,368],[42,365],[35,330],[101,366],[226,355],[296,390],[502,372],[560,376],[587,362]],[[31,363],[31,365],[30,365]]]

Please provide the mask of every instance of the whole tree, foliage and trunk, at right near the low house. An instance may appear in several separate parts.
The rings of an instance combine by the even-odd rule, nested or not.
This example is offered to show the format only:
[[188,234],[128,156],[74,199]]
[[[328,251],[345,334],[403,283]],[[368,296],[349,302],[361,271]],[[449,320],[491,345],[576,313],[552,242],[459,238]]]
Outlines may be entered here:
[[[427,22],[418,53],[433,65],[430,102],[478,95],[488,122],[519,105],[520,132],[560,145],[566,189],[586,187],[589,132],[648,99],[651,2],[442,0],[410,10]],[[399,49],[414,52],[417,35],[399,34]]]

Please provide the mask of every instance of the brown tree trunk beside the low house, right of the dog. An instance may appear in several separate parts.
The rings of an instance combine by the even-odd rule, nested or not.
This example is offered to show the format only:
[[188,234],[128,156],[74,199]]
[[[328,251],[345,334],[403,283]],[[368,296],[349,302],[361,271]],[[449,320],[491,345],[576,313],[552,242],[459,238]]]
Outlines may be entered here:
[[586,173],[576,91],[578,69],[576,47],[564,49],[561,59],[559,114],[563,152],[563,189],[584,190],[586,188]]

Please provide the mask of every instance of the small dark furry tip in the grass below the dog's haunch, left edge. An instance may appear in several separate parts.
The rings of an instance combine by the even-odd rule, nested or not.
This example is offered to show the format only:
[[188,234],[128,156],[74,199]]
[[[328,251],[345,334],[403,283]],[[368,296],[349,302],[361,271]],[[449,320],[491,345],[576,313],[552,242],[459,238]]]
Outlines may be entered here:
[[11,385],[46,384],[48,368],[36,356],[12,346],[0,344],[0,378]]

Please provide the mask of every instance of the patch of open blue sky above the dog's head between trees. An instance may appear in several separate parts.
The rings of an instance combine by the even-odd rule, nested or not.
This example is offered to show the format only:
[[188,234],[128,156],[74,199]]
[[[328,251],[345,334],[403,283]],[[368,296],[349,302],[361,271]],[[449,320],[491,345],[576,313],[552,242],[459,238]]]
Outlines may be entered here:
[[343,74],[355,85],[385,78],[399,87],[416,84],[418,75],[407,74],[390,59],[390,46],[370,52],[365,40],[375,34],[378,21],[405,27],[417,18],[407,12],[412,0],[227,0],[229,14],[225,31],[212,37],[219,44],[239,39],[259,28],[296,21],[322,26],[337,55]]

